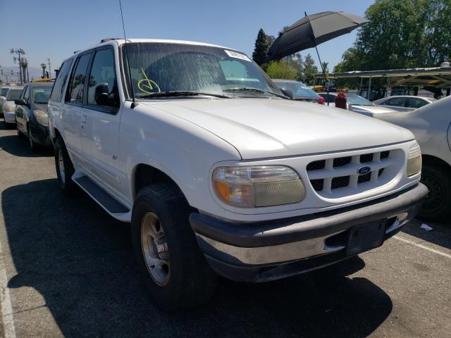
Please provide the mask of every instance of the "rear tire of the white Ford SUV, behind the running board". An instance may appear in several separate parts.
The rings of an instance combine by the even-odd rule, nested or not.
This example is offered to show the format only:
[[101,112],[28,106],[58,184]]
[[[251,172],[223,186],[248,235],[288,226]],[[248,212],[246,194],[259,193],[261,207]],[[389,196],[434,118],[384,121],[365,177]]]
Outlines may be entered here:
[[63,194],[72,194],[75,190],[75,182],[72,180],[75,170],[61,137],[58,137],[55,142],[55,167],[61,191]]

